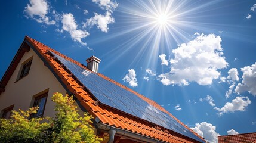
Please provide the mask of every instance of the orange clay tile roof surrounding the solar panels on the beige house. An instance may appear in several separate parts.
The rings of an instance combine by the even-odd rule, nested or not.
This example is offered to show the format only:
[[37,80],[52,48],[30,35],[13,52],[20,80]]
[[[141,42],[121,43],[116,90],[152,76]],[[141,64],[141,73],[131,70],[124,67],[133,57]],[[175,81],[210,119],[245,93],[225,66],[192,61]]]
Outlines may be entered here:
[[[95,97],[90,92],[88,92],[84,85],[81,85],[81,82],[79,82],[79,80],[75,76],[73,76],[73,73],[70,73],[70,71],[67,70],[67,68],[60,63],[60,61],[53,57],[51,52],[57,54],[58,56],[64,58],[67,61],[72,62],[73,64],[76,64],[79,67],[82,67],[83,69],[87,69],[86,66],[79,63],[78,61],[73,60],[72,58],[66,57],[66,55],[63,55],[60,52],[51,49],[50,47],[36,41],[35,39],[29,38],[28,36],[24,38],[21,48],[18,50],[16,56],[14,57],[14,60],[12,61],[10,67],[8,67],[7,72],[4,74],[4,77],[0,82],[0,94],[4,91],[5,85],[10,79],[11,74],[13,74],[14,70],[16,69],[18,62],[24,55],[24,52],[29,51],[30,48],[28,47],[36,51],[42,61],[44,61],[44,64],[49,67],[49,69],[54,73],[55,77],[57,77],[57,79],[61,82],[64,88],[66,88],[67,91],[70,92],[70,94],[74,94],[78,102],[80,102],[85,110],[87,110],[88,113],[90,113],[94,117],[94,119],[100,120],[101,123],[113,126],[115,128],[128,130],[129,132],[134,132],[163,142],[199,142],[195,139],[181,135],[162,126],[156,126],[154,123],[146,122],[145,120],[141,120],[138,117],[130,116],[129,114],[122,113],[121,111],[115,110],[106,105],[98,104],[97,99],[95,99]],[[137,95],[148,104],[171,116],[187,130],[202,139],[201,141],[204,141],[201,136],[193,132],[193,130],[180,122],[180,120],[175,118],[171,113],[166,111],[164,108],[161,107],[161,105],[157,104],[155,101],[150,100],[149,98],[144,97],[141,94],[138,94],[132,89],[129,89],[126,86],[115,82],[114,80],[110,79],[107,76],[104,76],[103,74],[98,73],[97,76],[108,80],[109,82],[112,82],[113,84],[129,92],[132,92],[132,94]]]

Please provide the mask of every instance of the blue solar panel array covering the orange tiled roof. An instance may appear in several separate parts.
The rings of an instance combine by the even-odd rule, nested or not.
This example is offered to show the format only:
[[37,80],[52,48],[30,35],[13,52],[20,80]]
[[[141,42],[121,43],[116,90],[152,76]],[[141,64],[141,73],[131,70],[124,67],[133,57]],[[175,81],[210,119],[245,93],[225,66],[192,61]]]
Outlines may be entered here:
[[140,119],[147,120],[148,122],[180,133],[181,135],[193,138],[196,141],[204,142],[189,129],[178,123],[177,120],[169,116],[169,114],[158,110],[132,92],[103,79],[97,74],[62,58],[53,52],[51,53],[70,72],[72,72],[79,82],[81,82],[88,91],[101,102],[101,104],[123,111]]

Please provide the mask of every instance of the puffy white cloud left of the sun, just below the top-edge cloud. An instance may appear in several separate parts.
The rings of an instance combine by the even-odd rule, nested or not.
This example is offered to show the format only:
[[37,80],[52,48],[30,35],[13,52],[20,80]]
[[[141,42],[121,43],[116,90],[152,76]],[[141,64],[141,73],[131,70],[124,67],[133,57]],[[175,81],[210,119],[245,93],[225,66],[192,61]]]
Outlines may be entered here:
[[83,27],[97,25],[97,29],[100,29],[102,32],[107,32],[109,30],[108,24],[114,23],[115,19],[112,17],[109,11],[105,15],[94,13],[94,17],[87,19]]

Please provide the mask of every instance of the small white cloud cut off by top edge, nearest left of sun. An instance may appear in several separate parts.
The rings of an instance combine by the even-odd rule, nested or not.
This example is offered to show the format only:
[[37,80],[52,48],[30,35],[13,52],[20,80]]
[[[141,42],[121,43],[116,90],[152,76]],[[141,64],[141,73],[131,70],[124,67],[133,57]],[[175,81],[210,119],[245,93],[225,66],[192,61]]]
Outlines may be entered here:
[[111,0],[92,0],[92,2],[95,2],[98,4],[98,6],[100,6],[100,8],[110,11],[111,13],[113,10],[115,10],[116,7],[118,7],[118,3]]

